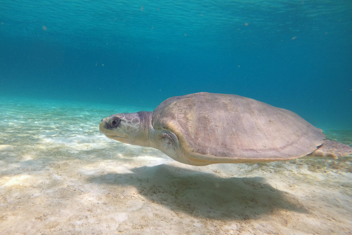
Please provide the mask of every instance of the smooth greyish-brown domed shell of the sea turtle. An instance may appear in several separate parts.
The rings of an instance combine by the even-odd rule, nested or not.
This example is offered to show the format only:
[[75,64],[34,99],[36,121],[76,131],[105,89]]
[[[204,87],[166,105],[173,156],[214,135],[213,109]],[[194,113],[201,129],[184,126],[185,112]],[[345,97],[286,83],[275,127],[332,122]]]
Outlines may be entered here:
[[213,163],[299,158],[325,139],[321,129],[294,112],[225,94],[171,97],[153,111],[152,125],[172,131],[184,155]]

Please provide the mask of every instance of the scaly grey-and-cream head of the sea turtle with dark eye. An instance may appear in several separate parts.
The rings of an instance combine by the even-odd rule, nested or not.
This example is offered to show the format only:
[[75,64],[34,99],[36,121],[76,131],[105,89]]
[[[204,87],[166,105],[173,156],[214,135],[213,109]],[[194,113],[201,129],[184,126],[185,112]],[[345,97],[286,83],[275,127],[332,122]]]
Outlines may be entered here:
[[151,112],[118,113],[103,118],[99,130],[120,142],[148,146],[148,123]]

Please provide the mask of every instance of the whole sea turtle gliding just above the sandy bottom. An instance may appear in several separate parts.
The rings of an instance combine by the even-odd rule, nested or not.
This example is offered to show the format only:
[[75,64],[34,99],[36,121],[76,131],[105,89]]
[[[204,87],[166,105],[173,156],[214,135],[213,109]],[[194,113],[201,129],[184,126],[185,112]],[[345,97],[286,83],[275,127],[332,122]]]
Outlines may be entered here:
[[237,95],[202,92],[171,97],[153,112],[104,118],[99,129],[109,138],[154,147],[195,166],[352,153],[348,145],[325,140],[321,129],[296,113]]

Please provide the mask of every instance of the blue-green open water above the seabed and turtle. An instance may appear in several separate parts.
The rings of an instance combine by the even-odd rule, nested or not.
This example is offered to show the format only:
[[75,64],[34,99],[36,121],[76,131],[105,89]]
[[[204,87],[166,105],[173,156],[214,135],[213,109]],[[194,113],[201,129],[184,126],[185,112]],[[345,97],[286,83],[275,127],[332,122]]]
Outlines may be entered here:
[[0,2],[3,98],[152,110],[201,91],[352,129],[352,2]]

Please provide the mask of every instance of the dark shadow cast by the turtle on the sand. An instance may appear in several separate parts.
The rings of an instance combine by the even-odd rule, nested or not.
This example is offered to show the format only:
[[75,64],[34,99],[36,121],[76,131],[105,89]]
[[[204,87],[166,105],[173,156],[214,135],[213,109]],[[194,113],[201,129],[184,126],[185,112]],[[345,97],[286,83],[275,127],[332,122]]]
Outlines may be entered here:
[[[290,194],[261,177],[219,178],[168,165],[132,169],[131,174],[92,176],[90,183],[135,187],[140,198],[197,217],[250,219],[283,209],[307,213]],[[143,200],[144,200],[143,199]]]

